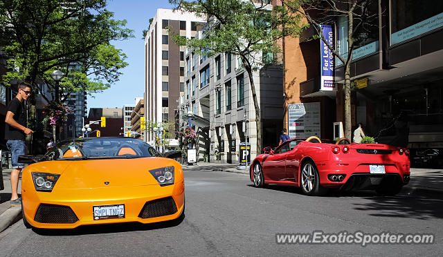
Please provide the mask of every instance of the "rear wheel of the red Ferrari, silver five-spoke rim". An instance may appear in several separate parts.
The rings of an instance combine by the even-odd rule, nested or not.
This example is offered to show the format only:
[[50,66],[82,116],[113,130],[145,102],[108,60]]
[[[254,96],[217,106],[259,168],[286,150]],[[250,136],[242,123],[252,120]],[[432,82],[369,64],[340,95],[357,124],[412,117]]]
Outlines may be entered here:
[[316,165],[311,162],[303,164],[300,174],[300,186],[307,196],[320,196],[325,193],[325,188],[321,187]]

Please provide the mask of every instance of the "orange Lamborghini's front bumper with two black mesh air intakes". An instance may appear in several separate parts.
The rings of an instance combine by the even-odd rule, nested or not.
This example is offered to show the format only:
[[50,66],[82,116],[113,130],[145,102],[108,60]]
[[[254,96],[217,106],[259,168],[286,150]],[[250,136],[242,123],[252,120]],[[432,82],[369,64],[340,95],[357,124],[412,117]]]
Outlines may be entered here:
[[[57,189],[52,192],[22,192],[23,215],[33,227],[72,229],[80,225],[118,222],[152,223],[179,218],[185,201],[184,181],[159,185]],[[113,218],[94,217],[94,207],[118,205],[124,214]]]

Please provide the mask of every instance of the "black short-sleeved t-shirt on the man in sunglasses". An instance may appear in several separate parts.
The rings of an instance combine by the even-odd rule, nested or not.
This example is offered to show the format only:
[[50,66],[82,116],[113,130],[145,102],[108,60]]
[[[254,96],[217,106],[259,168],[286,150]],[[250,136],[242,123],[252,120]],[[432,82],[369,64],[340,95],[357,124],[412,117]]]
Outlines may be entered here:
[[[14,113],[12,118],[21,126],[26,126],[26,116],[23,104],[14,97],[8,104],[8,111]],[[6,123],[5,129],[6,140],[25,140],[25,133],[18,128],[14,128]]]

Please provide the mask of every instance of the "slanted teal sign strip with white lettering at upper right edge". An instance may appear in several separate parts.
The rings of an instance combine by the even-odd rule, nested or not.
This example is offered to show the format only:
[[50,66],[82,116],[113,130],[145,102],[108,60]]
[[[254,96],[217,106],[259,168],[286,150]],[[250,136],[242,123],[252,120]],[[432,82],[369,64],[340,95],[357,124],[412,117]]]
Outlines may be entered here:
[[424,21],[420,21],[419,23],[415,23],[413,26],[409,26],[408,28],[404,28],[403,30],[399,30],[395,33],[392,33],[390,36],[390,44],[395,45],[399,44],[408,39],[412,39],[413,37],[417,37],[419,35],[423,35],[426,32],[431,30],[435,30],[436,28],[440,28],[443,26],[443,13],[440,15],[435,15],[429,19],[425,19]]

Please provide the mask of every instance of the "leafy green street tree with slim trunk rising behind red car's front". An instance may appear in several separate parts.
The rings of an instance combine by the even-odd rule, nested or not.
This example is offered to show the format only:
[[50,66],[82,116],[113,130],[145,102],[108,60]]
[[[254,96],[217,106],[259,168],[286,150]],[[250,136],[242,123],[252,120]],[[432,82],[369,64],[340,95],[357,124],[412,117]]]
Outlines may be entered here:
[[[267,53],[279,53],[283,37],[297,37],[307,24],[302,15],[289,15],[283,6],[271,6],[268,1],[244,0],[170,0],[177,10],[193,12],[206,17],[202,39],[187,39],[174,35],[180,46],[188,46],[199,55],[208,57],[217,53],[237,55],[248,74],[251,95],[255,108],[257,128],[257,153],[262,151],[262,126],[260,105],[253,79],[253,72],[263,66],[281,64],[277,58],[268,58]],[[274,55],[277,56],[277,55]]]

